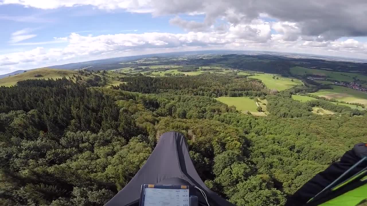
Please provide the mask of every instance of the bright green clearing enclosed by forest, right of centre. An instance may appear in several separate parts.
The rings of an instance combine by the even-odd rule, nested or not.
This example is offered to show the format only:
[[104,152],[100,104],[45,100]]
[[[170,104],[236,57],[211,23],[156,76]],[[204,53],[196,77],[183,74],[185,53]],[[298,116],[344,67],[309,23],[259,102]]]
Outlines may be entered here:
[[237,110],[242,111],[242,113],[246,113],[246,111],[250,111],[251,113],[257,113],[257,106],[253,99],[248,97],[227,97],[222,96],[215,98],[216,100],[227,104],[228,106],[235,106]]

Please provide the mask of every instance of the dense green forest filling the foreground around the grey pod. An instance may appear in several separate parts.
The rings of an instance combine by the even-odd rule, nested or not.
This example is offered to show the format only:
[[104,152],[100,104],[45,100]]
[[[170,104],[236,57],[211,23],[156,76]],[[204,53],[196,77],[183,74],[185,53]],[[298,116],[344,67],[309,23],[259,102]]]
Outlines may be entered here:
[[[175,130],[188,139],[212,190],[238,206],[281,206],[367,136],[364,112],[295,101],[294,89],[272,92],[246,76],[126,81],[112,88],[66,78],[0,87],[0,205],[103,205],[160,135]],[[213,98],[230,94],[265,96],[270,114],[242,114]],[[310,112],[321,104],[341,115]]]

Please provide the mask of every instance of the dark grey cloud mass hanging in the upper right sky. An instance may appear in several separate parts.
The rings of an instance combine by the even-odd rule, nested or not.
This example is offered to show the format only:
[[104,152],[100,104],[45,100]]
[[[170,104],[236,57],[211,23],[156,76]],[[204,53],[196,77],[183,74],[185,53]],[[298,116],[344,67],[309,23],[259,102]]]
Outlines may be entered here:
[[[250,22],[261,14],[267,14],[276,21],[295,22],[302,35],[322,36],[322,40],[367,36],[366,0],[204,0],[200,3],[177,1],[173,4],[167,0],[154,6],[157,14],[200,13],[206,15],[206,22],[225,18],[233,24]],[[198,25],[186,22],[181,26],[195,29]],[[287,38],[297,39],[295,36]]]

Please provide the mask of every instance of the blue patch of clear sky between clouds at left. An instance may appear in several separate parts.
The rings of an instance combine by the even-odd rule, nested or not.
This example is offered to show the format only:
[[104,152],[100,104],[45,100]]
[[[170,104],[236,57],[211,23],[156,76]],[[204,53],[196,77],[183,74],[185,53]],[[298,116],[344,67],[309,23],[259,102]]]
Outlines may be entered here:
[[[19,44],[36,42],[42,44],[54,41],[54,37],[65,37],[73,32],[93,36],[117,33],[183,32],[180,27],[170,26],[169,19],[172,16],[153,18],[151,14],[98,10],[90,6],[40,10],[24,8],[21,5],[2,5],[0,14],[2,14],[0,25],[3,28],[3,32],[0,33],[0,38],[3,40],[0,42],[2,50],[26,48],[24,45],[11,45],[8,42],[13,32],[25,28],[31,29],[32,32],[29,33],[37,36],[18,42]],[[51,45],[48,44],[48,46]]]

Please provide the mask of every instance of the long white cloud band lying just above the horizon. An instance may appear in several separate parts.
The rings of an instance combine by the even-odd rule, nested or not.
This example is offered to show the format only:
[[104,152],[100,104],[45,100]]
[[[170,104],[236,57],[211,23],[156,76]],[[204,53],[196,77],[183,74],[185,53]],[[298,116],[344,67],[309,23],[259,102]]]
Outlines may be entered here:
[[[230,25],[224,31],[181,34],[149,32],[83,36],[72,33],[68,37],[55,37],[50,41],[66,43],[60,48],[37,47],[0,55],[0,73],[117,56],[204,49],[287,51],[336,56],[353,53],[352,57],[367,58],[366,43],[354,39],[305,41],[298,38],[288,41],[284,40],[287,31],[281,31],[284,27],[277,28],[283,34],[271,34],[272,27],[269,22],[252,21],[249,24]],[[16,34],[25,33],[18,31]]]

